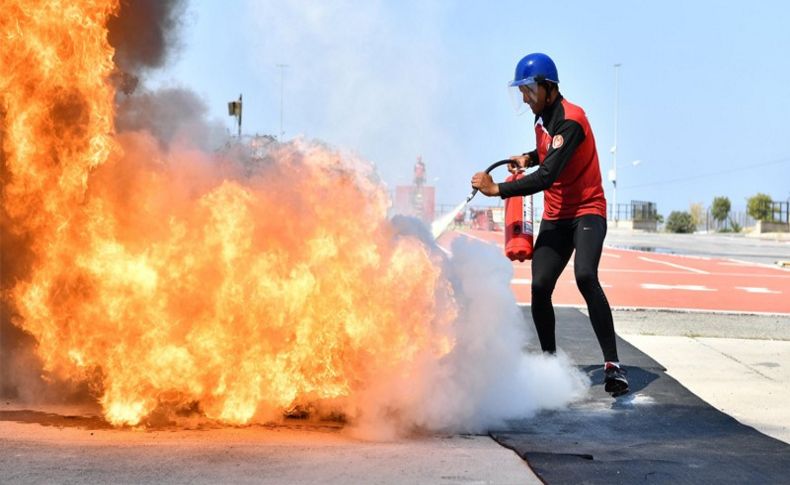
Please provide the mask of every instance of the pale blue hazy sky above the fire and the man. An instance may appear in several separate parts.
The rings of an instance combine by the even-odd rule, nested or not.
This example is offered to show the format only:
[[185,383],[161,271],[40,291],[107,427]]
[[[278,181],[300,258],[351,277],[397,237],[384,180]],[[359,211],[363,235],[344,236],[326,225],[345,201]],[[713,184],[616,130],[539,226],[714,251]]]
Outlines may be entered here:
[[788,19],[779,1],[192,0],[151,82],[196,91],[229,129],[226,102],[243,93],[245,133],[278,134],[287,64],[286,139],[359,153],[390,186],[422,155],[437,202],[454,205],[473,172],[534,148],[506,85],[545,52],[587,112],[611,202],[621,63],[618,202],[666,216],[727,196],[743,210],[757,192],[790,199]]

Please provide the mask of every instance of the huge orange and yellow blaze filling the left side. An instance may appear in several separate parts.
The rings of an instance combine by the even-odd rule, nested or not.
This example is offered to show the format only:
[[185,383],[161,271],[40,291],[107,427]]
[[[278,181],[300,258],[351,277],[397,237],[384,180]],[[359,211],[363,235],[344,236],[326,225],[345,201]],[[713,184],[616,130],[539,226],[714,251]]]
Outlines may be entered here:
[[[10,298],[45,370],[107,420],[227,423],[406,389],[453,347],[452,289],[372,169],[297,142],[240,168],[113,134],[112,1],[4,0],[3,204],[34,264]],[[408,394],[408,393],[404,393]]]

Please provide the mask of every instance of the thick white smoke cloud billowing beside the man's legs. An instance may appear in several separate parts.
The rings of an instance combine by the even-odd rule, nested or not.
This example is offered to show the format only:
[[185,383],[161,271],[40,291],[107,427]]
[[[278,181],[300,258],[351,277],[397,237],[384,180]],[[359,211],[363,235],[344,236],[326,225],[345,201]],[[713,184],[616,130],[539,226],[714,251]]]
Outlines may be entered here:
[[452,254],[450,275],[461,306],[452,355],[464,383],[458,397],[476,403],[461,427],[488,429],[578,399],[589,381],[564,354],[524,352],[536,336],[510,287],[510,261],[495,246],[464,237],[455,239]]

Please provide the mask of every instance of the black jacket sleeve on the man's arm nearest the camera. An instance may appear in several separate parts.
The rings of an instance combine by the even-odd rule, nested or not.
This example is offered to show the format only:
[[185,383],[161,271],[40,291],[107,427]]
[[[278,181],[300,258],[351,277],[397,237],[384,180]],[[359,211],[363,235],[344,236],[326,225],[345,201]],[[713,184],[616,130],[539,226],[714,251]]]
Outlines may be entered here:
[[562,169],[568,164],[573,152],[584,141],[584,130],[579,123],[565,120],[554,134],[553,139],[557,136],[562,136],[562,145],[559,148],[549,147],[545,160],[536,171],[513,182],[500,183],[500,197],[507,199],[508,197],[531,195],[551,187]]

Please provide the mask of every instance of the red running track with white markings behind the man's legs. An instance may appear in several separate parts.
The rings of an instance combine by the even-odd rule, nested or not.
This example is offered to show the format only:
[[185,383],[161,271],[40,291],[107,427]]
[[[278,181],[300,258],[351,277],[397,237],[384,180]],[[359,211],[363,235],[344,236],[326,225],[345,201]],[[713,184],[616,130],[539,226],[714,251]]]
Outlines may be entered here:
[[[503,236],[486,231],[450,233],[440,243],[449,248],[455,237],[472,237],[501,247]],[[530,262],[514,262],[513,270],[516,299],[519,303],[529,303]],[[598,271],[614,308],[790,314],[790,271],[778,267],[605,247]],[[573,278],[573,258],[557,282],[552,301],[558,305],[585,306]]]

